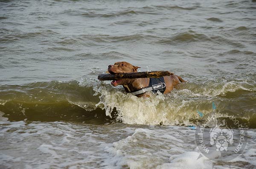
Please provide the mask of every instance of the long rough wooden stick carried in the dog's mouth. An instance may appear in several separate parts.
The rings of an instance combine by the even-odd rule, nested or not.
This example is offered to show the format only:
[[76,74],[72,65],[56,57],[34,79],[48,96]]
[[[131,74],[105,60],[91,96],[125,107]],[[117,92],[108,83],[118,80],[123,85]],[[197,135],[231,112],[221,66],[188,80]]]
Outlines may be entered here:
[[168,71],[155,71],[155,72],[135,72],[135,73],[116,73],[116,74],[99,74],[99,80],[120,80],[120,79],[136,79],[147,77],[163,77],[169,76],[173,73]]

